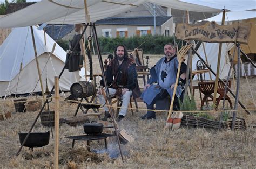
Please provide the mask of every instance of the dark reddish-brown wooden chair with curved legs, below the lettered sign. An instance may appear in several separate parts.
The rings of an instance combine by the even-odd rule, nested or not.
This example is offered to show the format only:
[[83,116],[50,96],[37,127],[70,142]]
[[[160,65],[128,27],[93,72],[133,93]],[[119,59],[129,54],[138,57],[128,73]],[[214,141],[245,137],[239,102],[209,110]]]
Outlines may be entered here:
[[[231,81],[228,81],[227,86],[231,88]],[[204,94],[203,99],[201,100],[201,109],[204,105],[205,102],[213,101],[213,93],[214,93],[214,87],[215,87],[215,82],[199,82],[198,83],[199,91]],[[218,109],[219,103],[221,100],[224,100],[224,90],[225,90],[225,85],[221,83],[220,81],[218,82],[218,89],[217,93],[219,94],[219,97],[216,99],[216,109]],[[226,91],[228,93],[228,90]],[[228,101],[230,104],[230,108],[232,109],[232,102],[230,100],[230,97],[227,95],[225,96],[225,100]]]

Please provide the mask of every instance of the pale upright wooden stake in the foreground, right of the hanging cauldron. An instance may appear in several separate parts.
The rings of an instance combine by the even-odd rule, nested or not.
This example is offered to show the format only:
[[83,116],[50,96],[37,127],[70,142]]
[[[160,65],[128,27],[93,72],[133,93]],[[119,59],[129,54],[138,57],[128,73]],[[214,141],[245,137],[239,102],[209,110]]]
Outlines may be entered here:
[[59,158],[59,78],[54,77],[55,86],[55,116],[54,116],[54,127],[55,127],[55,140],[54,140],[54,168],[58,168]]

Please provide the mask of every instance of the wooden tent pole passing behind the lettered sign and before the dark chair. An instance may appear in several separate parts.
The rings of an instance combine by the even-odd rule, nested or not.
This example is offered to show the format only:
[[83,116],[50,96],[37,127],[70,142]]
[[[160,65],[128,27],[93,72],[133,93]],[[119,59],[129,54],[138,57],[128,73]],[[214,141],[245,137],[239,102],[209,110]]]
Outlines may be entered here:
[[[223,14],[222,14],[222,21],[221,21],[221,25],[225,24],[225,14],[226,11],[225,9],[223,10]],[[216,96],[217,96],[217,89],[218,89],[218,82],[219,82],[219,69],[220,69],[220,57],[221,57],[221,48],[222,48],[222,43],[219,44],[219,54],[218,54],[218,62],[217,62],[217,72],[216,72],[216,78],[215,78],[215,86],[214,86],[214,94],[213,94],[213,105],[215,108],[215,104],[216,104]]]

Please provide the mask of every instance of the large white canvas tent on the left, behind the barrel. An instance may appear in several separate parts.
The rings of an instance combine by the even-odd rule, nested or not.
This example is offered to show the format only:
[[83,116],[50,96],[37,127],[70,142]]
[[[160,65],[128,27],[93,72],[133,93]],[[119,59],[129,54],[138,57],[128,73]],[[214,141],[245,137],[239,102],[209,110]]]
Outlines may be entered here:
[[[48,87],[54,85],[54,76],[58,76],[65,65],[66,52],[56,44],[55,51],[51,53],[55,41],[46,34],[44,45],[44,32],[33,26],[39,67],[45,89],[45,80]],[[22,63],[22,71],[19,73]],[[0,46],[0,96],[5,94],[24,94],[41,91],[37,73],[35,53],[33,49],[30,27],[13,29],[8,38]],[[69,72],[64,71],[59,80],[60,89],[70,90]]]

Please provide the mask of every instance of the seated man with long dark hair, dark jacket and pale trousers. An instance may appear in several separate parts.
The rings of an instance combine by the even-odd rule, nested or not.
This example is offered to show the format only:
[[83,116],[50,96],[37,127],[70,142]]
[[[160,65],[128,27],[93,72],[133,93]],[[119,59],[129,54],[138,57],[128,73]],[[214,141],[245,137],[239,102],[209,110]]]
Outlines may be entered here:
[[[119,95],[123,100],[118,116],[118,121],[120,121],[126,115],[131,95],[134,99],[140,96],[135,63],[128,57],[127,50],[123,45],[116,47],[114,58],[107,65],[105,74],[110,96]],[[103,79],[100,81],[100,86],[104,87]],[[98,97],[100,103],[104,104],[106,101],[101,91],[98,91]],[[105,118],[107,118],[109,110],[106,106],[103,108]]]

